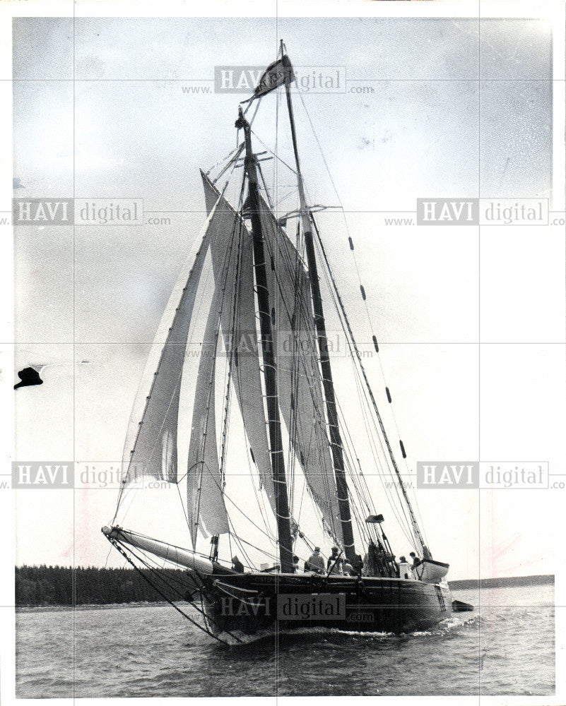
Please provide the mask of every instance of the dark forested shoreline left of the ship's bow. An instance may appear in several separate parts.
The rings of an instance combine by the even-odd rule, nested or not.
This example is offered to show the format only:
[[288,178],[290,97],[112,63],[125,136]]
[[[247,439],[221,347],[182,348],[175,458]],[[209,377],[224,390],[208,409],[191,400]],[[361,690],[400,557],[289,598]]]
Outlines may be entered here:
[[[147,569],[142,573],[170,599],[179,599],[184,572],[163,570],[174,589]],[[16,566],[16,606],[159,602],[163,597],[133,568]]]

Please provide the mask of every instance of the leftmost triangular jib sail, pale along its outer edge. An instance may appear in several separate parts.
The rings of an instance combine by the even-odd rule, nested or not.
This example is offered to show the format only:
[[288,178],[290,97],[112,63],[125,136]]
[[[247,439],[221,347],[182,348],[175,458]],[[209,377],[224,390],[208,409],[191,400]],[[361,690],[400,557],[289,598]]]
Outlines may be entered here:
[[196,292],[210,240],[213,208],[177,278],[151,347],[124,445],[126,484],[141,473],[177,482],[179,389]]

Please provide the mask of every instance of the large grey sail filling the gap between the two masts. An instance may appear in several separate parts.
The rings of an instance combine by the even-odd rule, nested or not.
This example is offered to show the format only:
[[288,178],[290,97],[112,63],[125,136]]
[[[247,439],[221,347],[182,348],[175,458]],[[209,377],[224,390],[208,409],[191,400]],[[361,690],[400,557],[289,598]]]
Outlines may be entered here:
[[326,433],[322,378],[305,265],[273,213],[261,202],[261,226],[271,256],[270,299],[276,318],[281,413],[326,527],[341,539],[336,481]]

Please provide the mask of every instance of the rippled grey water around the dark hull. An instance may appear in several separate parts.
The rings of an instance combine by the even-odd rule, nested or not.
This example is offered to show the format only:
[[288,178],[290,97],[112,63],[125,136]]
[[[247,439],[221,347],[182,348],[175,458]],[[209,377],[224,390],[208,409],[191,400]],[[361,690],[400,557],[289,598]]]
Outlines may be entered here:
[[553,586],[454,591],[480,611],[412,635],[318,630],[211,643],[167,605],[16,616],[18,698],[550,695]]

